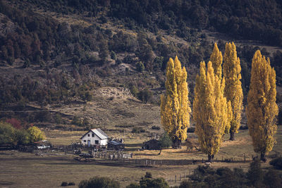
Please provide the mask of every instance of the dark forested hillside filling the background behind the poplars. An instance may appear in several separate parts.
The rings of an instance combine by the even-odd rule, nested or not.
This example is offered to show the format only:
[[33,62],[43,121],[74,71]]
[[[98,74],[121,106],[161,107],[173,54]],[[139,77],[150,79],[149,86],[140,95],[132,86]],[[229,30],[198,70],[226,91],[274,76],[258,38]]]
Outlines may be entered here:
[[[102,86],[159,105],[166,62],[175,56],[188,68],[191,97],[214,42],[221,51],[243,39],[282,47],[281,28],[278,0],[1,0],[0,106],[86,102]],[[207,31],[223,39],[211,41]],[[244,96],[258,48],[237,46]],[[281,84],[281,51],[261,51]]]

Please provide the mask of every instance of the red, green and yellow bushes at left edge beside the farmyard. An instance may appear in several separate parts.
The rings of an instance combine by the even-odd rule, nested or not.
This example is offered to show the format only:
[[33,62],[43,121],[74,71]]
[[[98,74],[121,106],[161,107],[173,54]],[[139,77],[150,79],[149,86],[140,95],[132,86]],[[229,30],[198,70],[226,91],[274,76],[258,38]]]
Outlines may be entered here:
[[22,125],[14,118],[0,121],[0,144],[29,144],[45,138],[44,132],[33,125]]

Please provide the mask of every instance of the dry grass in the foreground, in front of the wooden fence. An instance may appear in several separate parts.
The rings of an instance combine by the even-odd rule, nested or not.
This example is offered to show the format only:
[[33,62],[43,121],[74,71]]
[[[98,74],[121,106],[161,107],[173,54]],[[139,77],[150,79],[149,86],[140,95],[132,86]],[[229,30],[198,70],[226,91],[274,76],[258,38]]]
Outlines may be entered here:
[[[174,182],[175,175],[179,179],[192,173],[197,165],[162,166],[158,168],[140,168],[122,165],[100,165],[99,163],[78,162],[73,155],[35,156],[33,153],[18,151],[0,151],[0,187],[59,187],[61,182],[75,182],[77,187],[81,180],[90,177],[106,176],[121,182],[122,187],[137,182],[149,171],[153,177],[164,177],[169,184]],[[218,168],[225,163],[214,163]],[[230,163],[230,167],[248,168],[248,163]],[[170,181],[173,180],[173,181]]]

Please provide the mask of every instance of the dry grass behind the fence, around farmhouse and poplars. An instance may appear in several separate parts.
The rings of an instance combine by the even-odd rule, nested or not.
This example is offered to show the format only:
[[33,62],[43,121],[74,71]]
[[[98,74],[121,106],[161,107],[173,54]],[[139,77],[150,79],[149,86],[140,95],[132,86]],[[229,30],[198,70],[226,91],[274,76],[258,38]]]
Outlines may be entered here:
[[[83,131],[59,131],[48,130],[45,131],[47,139],[52,144],[71,144],[71,142],[79,141],[80,137],[85,134]],[[123,133],[111,133],[106,132],[109,137],[123,138],[125,140],[125,149],[133,152],[135,158],[149,158],[149,159],[207,159],[207,155],[201,151],[187,151],[186,147],[182,149],[164,149],[161,155],[158,155],[159,151],[138,151],[141,148],[142,143],[147,141],[149,137],[147,134],[133,134],[130,132]],[[188,133],[188,139],[195,137],[194,133]],[[248,130],[239,130],[238,134],[235,134],[235,141],[228,140],[229,135],[226,135],[219,153],[216,153],[215,158],[233,158],[235,160],[242,160],[244,156],[246,158],[252,158],[256,156],[252,147],[252,139],[248,134]],[[281,155],[282,154],[282,126],[278,126],[276,133],[276,144],[273,151],[268,156]]]

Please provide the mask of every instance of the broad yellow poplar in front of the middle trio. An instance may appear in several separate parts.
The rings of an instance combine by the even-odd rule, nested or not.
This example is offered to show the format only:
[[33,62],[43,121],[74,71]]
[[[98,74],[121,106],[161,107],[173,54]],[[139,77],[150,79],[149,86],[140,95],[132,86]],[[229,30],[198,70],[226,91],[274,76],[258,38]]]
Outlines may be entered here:
[[223,90],[224,83],[214,74],[212,62],[207,64],[207,70],[205,63],[201,62],[195,85],[193,119],[201,150],[207,153],[209,161],[219,151],[228,120]]

